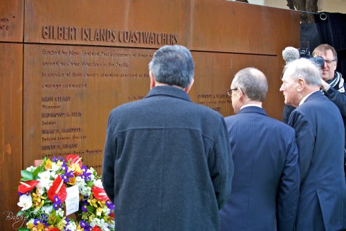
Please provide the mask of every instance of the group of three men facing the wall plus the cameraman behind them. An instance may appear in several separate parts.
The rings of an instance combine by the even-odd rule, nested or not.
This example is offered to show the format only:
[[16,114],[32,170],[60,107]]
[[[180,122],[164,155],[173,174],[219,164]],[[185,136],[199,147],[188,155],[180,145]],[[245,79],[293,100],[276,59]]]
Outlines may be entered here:
[[345,83],[332,46],[313,55],[322,67],[284,67],[278,121],[262,108],[259,69],[235,74],[224,118],[190,100],[190,51],[158,49],[147,96],[109,114],[102,182],[115,230],[346,229]]

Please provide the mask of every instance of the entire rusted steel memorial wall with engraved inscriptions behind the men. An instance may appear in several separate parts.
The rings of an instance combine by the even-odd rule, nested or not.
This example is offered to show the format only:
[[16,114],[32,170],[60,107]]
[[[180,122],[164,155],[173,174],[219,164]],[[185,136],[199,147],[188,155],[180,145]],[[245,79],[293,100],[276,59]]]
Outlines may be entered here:
[[112,108],[149,91],[159,47],[192,51],[195,103],[233,114],[227,89],[244,67],[268,77],[264,108],[281,119],[282,50],[299,45],[299,14],[208,0],[1,1],[0,227],[16,230],[20,171],[75,153],[101,172]]

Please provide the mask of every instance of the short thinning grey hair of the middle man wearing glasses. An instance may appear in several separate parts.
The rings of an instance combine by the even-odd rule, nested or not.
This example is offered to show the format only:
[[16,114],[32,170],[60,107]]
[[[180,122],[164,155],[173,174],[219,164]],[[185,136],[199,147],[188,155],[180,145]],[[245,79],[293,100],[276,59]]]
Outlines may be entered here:
[[233,79],[233,86],[242,89],[251,101],[264,102],[268,92],[266,76],[254,67],[238,71]]

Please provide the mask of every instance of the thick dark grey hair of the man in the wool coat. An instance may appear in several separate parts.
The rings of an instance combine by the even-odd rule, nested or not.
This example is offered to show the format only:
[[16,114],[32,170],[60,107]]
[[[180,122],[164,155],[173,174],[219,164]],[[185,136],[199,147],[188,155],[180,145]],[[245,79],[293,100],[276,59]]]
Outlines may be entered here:
[[159,83],[186,88],[194,77],[194,61],[185,46],[163,46],[149,62],[149,71]]

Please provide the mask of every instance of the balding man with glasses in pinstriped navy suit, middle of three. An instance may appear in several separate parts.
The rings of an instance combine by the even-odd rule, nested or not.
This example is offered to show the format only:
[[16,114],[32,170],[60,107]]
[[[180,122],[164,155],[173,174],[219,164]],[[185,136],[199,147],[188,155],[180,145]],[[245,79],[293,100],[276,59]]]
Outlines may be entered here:
[[261,71],[242,69],[230,88],[236,115],[226,117],[226,126],[235,173],[219,212],[221,230],[293,230],[300,182],[295,132],[264,112],[268,83]]

